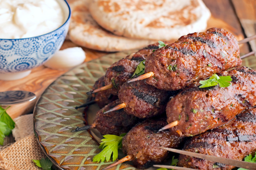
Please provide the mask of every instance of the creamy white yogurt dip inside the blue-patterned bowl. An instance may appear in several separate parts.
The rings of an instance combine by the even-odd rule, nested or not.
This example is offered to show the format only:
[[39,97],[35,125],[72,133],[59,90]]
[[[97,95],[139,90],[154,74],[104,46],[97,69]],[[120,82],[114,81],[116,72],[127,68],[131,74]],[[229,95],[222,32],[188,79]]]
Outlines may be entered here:
[[0,39],[40,36],[63,24],[56,0],[0,0]]

